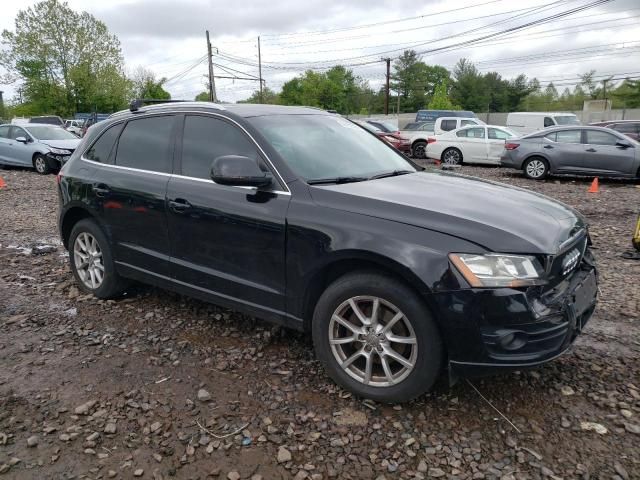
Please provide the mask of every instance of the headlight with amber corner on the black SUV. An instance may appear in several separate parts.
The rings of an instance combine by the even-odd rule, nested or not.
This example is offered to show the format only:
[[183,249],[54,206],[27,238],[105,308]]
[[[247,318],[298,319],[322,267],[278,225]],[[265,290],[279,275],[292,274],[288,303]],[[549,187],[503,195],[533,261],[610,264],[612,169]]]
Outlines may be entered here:
[[543,285],[544,268],[531,255],[451,253],[449,259],[472,287]]

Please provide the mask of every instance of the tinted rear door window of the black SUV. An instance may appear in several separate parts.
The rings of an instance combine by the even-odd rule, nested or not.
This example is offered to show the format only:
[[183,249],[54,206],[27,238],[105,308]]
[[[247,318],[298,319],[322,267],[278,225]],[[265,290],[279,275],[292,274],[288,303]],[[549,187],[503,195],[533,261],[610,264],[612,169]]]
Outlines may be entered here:
[[116,165],[153,172],[171,172],[171,129],[174,117],[131,120],[118,141]]

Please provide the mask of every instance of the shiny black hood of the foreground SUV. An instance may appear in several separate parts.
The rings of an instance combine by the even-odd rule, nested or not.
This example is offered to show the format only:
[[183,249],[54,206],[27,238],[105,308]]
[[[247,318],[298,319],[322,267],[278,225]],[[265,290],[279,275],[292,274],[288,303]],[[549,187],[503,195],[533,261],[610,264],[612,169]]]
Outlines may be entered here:
[[418,172],[311,187],[320,205],[454,235],[488,250],[555,254],[585,227],[571,207],[474,177]]

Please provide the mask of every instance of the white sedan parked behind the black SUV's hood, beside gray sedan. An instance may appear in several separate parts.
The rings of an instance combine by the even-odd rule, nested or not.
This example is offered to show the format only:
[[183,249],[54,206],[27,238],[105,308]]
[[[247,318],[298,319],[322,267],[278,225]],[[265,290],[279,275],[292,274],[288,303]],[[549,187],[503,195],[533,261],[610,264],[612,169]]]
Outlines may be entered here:
[[487,163],[500,165],[505,140],[517,137],[498,125],[467,126],[427,139],[427,158],[449,165]]

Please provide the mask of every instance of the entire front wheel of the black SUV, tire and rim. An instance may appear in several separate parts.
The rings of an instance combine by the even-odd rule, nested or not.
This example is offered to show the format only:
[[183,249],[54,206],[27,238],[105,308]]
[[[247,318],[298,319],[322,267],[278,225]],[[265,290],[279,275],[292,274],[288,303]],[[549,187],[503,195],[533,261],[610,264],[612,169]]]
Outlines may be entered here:
[[405,402],[440,374],[442,341],[427,307],[410,288],[379,273],[332,283],[318,300],[312,333],[329,376],[360,397]]

